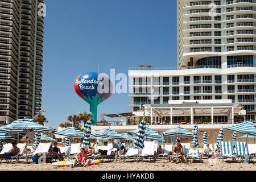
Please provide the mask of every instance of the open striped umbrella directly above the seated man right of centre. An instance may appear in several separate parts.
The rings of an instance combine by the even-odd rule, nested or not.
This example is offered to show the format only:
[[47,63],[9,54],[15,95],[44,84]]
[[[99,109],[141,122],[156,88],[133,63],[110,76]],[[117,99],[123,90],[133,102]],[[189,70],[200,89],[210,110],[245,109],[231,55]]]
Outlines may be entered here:
[[193,133],[184,129],[183,127],[174,127],[171,130],[164,131],[162,135],[164,137],[175,137],[175,135],[177,135],[178,138],[193,137]]

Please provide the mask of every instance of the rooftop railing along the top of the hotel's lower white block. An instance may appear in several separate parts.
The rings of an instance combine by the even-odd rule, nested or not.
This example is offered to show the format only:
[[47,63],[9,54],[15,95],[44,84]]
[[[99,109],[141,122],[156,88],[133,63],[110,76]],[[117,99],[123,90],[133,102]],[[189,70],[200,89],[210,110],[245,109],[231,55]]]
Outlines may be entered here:
[[[213,69],[226,69],[226,68],[237,68],[237,67],[256,67],[255,64],[232,64],[225,66],[218,65],[202,65],[202,66],[191,66],[191,67],[182,67],[179,69],[203,69],[203,68],[213,68]],[[129,71],[165,71],[165,70],[179,70],[175,67],[163,67],[163,68],[129,68]]]

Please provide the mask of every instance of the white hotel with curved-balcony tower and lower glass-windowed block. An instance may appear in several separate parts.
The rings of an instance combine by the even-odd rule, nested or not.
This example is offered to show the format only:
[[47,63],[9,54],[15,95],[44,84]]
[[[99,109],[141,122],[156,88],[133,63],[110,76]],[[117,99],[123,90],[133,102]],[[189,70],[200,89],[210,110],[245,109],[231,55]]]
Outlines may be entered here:
[[133,113],[151,123],[255,121],[255,8],[177,0],[177,68],[129,69]]

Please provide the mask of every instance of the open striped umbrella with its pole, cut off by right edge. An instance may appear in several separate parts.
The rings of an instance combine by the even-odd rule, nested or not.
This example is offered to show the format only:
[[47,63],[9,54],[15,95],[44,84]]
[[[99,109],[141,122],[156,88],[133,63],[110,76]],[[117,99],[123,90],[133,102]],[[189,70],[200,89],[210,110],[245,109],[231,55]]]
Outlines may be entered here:
[[[245,121],[237,125],[228,126],[224,128],[225,130],[236,131],[238,133],[246,134],[246,146],[247,138],[250,135],[256,136],[256,126],[250,121]],[[246,148],[246,147],[245,147]],[[245,155],[245,148],[243,148],[243,155]]]

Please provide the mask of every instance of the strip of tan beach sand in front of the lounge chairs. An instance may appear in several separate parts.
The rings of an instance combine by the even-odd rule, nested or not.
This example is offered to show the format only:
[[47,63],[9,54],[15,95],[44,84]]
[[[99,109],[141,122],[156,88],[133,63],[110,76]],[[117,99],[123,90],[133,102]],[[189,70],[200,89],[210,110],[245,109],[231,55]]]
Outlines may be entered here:
[[89,167],[53,167],[51,164],[35,164],[24,163],[1,163],[1,171],[256,171],[256,159],[253,159],[250,164],[241,164],[232,162],[232,160],[224,159],[224,162],[220,162],[210,165],[207,159],[203,160],[203,163],[195,162],[192,164],[176,164],[166,163],[162,165],[161,160],[150,162],[150,160],[144,159],[141,162],[126,161],[123,163],[104,162]]

